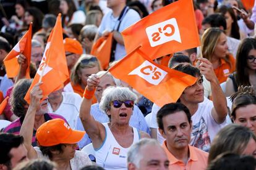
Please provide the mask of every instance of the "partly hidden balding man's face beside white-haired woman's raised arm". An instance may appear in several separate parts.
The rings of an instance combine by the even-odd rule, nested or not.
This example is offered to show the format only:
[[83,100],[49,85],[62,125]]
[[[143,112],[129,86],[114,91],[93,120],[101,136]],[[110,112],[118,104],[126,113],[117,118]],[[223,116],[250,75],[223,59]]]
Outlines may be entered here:
[[108,75],[103,76],[100,79],[100,83],[96,87],[96,91],[95,91],[95,97],[96,97],[98,103],[100,103],[103,91],[105,91],[105,89],[108,88],[109,86],[116,86],[113,78],[111,78]]

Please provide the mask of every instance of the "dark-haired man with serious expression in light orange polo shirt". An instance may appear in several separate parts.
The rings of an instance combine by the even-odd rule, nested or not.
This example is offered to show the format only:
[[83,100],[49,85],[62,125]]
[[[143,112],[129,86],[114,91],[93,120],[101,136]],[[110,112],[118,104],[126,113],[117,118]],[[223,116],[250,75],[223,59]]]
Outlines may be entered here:
[[206,169],[208,153],[192,147],[190,134],[192,121],[189,109],[182,103],[168,103],[157,113],[161,135],[169,163],[169,169]]

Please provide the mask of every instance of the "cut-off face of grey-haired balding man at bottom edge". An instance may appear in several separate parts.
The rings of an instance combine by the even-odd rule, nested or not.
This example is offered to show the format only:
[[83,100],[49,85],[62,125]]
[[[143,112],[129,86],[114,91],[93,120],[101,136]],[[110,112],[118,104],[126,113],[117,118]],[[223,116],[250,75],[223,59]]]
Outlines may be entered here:
[[140,160],[140,170],[167,170],[169,167],[169,160],[163,148],[156,145],[145,145],[140,148],[140,154],[143,155]]

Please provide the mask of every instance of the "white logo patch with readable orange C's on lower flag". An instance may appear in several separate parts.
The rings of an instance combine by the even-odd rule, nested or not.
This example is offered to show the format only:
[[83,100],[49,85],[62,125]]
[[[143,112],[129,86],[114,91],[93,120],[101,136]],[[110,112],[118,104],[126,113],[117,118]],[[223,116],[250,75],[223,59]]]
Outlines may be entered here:
[[167,72],[161,70],[161,68],[156,67],[152,63],[145,61],[142,65],[132,70],[128,75],[138,75],[148,83],[158,85],[167,75]]

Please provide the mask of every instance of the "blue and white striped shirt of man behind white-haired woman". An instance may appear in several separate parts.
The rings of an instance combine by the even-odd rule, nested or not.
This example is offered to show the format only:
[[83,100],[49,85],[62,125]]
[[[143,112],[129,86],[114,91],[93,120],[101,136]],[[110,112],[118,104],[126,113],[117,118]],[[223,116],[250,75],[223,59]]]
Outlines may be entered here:
[[[95,118],[96,121],[98,121],[100,123],[109,122],[108,115],[106,115],[106,113],[104,113],[100,109],[100,105],[98,103],[95,103],[92,105],[90,114],[93,116],[93,118]],[[133,110],[132,116],[130,117],[129,125],[137,128],[139,131],[147,132],[148,134],[150,134],[150,129],[148,128],[148,125],[145,121],[142,111],[140,111],[140,109],[139,109],[139,107],[137,107],[137,105],[134,105],[134,110]],[[79,131],[85,131],[85,129],[83,128],[82,121],[80,120],[79,116],[77,116],[75,129],[79,130]],[[91,142],[92,141],[88,137],[88,134],[85,134],[85,136],[83,136],[82,140],[80,140],[80,142],[78,143],[79,148],[83,148],[86,145],[90,144]]]

